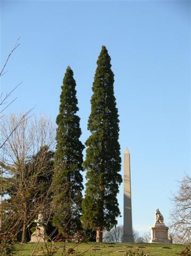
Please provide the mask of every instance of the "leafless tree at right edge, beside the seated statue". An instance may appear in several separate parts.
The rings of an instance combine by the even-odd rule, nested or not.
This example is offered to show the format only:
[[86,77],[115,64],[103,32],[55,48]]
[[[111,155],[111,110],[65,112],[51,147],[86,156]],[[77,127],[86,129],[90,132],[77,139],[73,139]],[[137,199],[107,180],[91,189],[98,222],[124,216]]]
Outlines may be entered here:
[[171,213],[170,231],[173,243],[191,242],[191,178],[186,175],[179,182],[179,191],[171,199],[174,210]]

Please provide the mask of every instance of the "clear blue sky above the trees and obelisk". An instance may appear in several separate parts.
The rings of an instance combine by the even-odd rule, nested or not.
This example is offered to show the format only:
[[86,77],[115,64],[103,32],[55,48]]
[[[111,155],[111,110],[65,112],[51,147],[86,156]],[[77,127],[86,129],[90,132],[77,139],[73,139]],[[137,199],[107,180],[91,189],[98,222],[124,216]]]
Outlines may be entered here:
[[[176,180],[190,174],[190,31],[189,1],[1,1],[1,65],[21,36],[1,81],[4,93],[23,81],[7,112],[36,106],[55,121],[70,65],[84,143],[96,60],[107,47],[138,231],[153,225],[156,207],[169,221]],[[123,214],[123,185],[118,198]]]

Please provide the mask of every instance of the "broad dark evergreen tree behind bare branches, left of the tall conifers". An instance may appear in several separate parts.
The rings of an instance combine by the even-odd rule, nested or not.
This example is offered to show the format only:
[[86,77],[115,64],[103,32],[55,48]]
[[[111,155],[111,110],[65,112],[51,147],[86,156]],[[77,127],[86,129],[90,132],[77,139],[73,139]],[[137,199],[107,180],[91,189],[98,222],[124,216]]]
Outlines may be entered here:
[[18,241],[21,241],[21,236],[24,242],[30,241],[26,227],[31,226],[39,211],[45,218],[49,214],[52,201],[49,188],[53,177],[53,156],[53,151],[43,146],[36,155],[24,161],[22,166],[19,160],[13,166],[0,163],[0,166],[10,173],[5,178],[3,187],[5,198],[2,202],[2,229],[11,229]]

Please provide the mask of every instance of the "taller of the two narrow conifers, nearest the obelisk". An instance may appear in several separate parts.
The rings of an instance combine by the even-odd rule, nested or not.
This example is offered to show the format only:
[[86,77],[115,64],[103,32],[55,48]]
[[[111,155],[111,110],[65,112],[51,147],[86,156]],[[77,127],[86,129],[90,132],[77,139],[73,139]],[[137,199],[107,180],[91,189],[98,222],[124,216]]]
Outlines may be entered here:
[[96,230],[96,241],[102,242],[103,229],[110,230],[120,215],[117,194],[122,182],[119,138],[119,119],[111,70],[111,58],[105,46],[97,60],[91,99],[92,111],[86,141],[86,193],[82,202],[82,223]]

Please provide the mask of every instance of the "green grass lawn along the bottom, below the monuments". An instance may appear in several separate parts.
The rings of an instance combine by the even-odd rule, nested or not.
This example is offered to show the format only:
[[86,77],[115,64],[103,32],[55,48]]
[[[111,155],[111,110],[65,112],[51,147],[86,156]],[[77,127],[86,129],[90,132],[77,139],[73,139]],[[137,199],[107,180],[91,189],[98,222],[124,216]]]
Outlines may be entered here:
[[[51,243],[47,243],[47,245],[50,245]],[[43,255],[43,250],[41,247],[45,247],[44,243],[36,244],[36,243],[27,243],[26,245],[16,245],[15,247],[15,255],[18,256],[30,256],[32,252],[34,251],[35,247],[37,246],[37,250],[34,253],[34,256]],[[65,255],[62,254],[63,251],[63,243],[54,243],[53,246],[59,247],[59,250],[55,255]],[[68,251],[69,248],[73,248],[75,246],[74,243],[67,243],[66,249]],[[84,252],[83,255],[85,256],[96,256],[96,255],[102,255],[102,256],[112,256],[112,255],[126,255],[125,252],[132,249],[127,246],[133,246],[133,248],[136,248],[138,246],[144,246],[145,248],[142,248],[140,250],[144,250],[147,252],[150,252],[150,255],[152,256],[174,256],[178,255],[177,253],[182,252],[186,245],[181,244],[135,244],[135,243],[81,243],[77,247],[74,248],[76,252]],[[168,246],[171,249],[162,249],[162,246]],[[118,252],[118,251],[125,251],[125,252]],[[68,254],[67,254],[68,255]],[[73,254],[70,254],[73,255]]]

